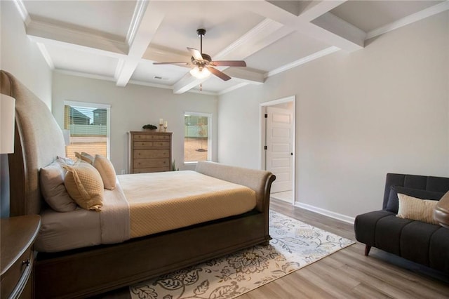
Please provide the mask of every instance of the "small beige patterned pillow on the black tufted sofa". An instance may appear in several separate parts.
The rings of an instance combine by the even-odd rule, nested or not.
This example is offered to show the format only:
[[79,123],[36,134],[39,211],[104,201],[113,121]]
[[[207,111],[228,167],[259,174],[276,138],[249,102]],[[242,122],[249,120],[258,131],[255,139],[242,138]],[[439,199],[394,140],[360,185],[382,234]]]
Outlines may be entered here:
[[434,220],[434,208],[438,204],[438,201],[418,199],[401,193],[398,193],[398,199],[399,208],[397,217],[420,220],[438,225],[438,222]]

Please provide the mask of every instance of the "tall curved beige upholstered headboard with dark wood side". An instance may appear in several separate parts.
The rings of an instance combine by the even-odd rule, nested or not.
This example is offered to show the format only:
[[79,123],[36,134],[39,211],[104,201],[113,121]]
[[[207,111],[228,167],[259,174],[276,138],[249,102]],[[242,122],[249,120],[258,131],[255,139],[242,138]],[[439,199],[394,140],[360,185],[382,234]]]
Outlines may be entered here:
[[0,71],[1,93],[15,98],[14,153],[8,155],[10,215],[37,214],[43,201],[39,169],[65,156],[62,131],[45,103],[8,72]]

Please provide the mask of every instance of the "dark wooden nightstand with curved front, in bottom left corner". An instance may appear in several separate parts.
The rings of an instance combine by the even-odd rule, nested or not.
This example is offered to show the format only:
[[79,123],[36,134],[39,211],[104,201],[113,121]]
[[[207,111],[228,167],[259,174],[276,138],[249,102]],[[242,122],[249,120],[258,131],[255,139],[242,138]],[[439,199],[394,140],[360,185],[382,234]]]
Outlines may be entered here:
[[0,298],[33,298],[33,243],[39,233],[39,215],[2,218]]

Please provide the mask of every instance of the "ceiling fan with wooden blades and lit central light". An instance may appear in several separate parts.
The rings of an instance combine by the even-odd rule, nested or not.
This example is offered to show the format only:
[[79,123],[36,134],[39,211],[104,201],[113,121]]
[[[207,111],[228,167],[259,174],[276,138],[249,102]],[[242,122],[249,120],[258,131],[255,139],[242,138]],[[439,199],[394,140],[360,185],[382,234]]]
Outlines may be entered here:
[[246,67],[246,62],[243,60],[217,60],[213,61],[210,55],[203,53],[203,36],[206,34],[206,29],[197,29],[196,33],[201,39],[200,51],[195,48],[187,47],[187,50],[192,54],[190,60],[192,62],[153,62],[153,65],[194,65],[190,70],[192,76],[203,79],[210,75],[210,73],[219,77],[222,80],[228,81],[231,79],[227,74],[221,72],[215,67]]

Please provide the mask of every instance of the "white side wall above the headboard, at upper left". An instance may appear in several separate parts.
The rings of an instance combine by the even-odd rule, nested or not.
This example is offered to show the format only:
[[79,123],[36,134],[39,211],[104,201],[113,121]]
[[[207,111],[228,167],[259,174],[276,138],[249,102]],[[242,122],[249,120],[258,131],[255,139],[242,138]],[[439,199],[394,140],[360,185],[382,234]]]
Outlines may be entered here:
[[25,25],[14,1],[0,1],[0,68],[10,72],[51,109],[52,71],[36,43],[26,35]]

